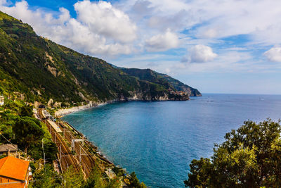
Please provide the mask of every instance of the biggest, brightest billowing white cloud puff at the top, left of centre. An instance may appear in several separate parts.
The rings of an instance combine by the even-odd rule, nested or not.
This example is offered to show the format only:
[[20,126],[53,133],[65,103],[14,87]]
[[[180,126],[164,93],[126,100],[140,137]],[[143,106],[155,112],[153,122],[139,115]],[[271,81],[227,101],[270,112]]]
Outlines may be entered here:
[[136,39],[136,24],[110,3],[78,1],[74,4],[74,9],[78,14],[77,20],[87,25],[93,32],[124,43]]

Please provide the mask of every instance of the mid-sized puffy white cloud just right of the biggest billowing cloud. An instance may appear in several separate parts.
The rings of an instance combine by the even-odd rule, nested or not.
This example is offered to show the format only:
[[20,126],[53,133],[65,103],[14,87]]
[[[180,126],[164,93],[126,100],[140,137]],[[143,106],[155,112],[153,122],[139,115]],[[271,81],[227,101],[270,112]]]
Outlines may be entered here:
[[152,36],[145,41],[147,51],[166,51],[176,48],[178,44],[178,36],[170,30],[166,30],[163,34]]

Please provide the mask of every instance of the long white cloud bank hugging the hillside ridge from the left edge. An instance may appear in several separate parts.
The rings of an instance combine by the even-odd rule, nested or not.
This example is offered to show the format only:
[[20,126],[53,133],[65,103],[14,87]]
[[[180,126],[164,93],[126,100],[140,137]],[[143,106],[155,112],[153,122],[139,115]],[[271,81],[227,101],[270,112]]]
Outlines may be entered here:
[[[129,54],[136,39],[136,24],[126,13],[105,1],[78,1],[74,4],[77,18],[60,8],[58,13],[31,10],[27,1],[14,6],[4,6],[0,10],[29,23],[37,34],[48,37],[77,51],[96,55]],[[56,16],[58,15],[58,16]]]

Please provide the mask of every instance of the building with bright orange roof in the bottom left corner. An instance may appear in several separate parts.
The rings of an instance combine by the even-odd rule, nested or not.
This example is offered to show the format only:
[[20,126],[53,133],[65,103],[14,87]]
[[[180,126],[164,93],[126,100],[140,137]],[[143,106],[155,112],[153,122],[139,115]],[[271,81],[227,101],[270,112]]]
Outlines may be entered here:
[[26,188],[31,177],[30,161],[13,156],[0,159],[0,187]]

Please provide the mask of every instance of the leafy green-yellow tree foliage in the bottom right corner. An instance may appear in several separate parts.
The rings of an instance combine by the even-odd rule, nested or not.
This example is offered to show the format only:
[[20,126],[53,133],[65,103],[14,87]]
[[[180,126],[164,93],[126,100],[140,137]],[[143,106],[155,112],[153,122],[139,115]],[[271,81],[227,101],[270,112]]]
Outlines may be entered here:
[[215,145],[214,155],[193,160],[185,187],[280,187],[281,126],[246,121]]

